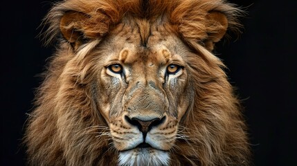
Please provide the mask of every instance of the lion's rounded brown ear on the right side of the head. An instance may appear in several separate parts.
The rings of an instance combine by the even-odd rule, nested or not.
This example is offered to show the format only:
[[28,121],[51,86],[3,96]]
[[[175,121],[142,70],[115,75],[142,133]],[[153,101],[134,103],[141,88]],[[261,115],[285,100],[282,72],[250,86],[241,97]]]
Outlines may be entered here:
[[208,38],[204,41],[208,50],[213,50],[216,42],[219,42],[226,34],[228,19],[222,12],[211,11],[206,17],[208,19],[207,33]]

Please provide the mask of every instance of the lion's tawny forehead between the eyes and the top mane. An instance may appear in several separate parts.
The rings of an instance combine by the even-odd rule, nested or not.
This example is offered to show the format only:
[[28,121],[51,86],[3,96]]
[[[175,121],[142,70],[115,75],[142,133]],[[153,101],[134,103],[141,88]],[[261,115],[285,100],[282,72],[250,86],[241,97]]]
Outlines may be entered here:
[[150,34],[144,35],[146,29],[143,30],[138,24],[119,24],[104,44],[104,47],[109,48],[106,51],[110,54],[109,58],[118,59],[124,64],[141,60],[149,66],[154,63],[166,64],[171,58],[182,59],[181,55],[187,48],[174,33],[156,24],[147,23],[145,26],[150,29]]

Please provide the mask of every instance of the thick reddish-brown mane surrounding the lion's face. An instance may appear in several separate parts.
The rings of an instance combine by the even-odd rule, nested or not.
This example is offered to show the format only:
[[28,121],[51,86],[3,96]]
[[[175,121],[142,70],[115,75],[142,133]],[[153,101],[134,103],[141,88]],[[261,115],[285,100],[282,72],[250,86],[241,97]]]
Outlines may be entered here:
[[[61,19],[69,11],[83,13],[83,21],[64,27]],[[249,165],[240,104],[222,70],[224,64],[208,52],[222,37],[217,34],[224,35],[221,32],[224,27],[210,19],[212,11],[223,13],[228,20],[228,30],[237,31],[240,10],[221,0],[152,0],[146,4],[138,0],[69,0],[57,3],[47,17],[50,25],[47,42],[55,39],[61,30],[69,41],[60,43],[36,96],[36,109],[31,113],[26,131],[28,163],[117,165],[118,151],[109,145],[109,136],[96,138],[93,134],[108,129],[88,128],[108,127],[108,118],[102,116],[100,103],[92,98],[103,89],[101,85],[93,86],[94,78],[100,74],[96,73],[97,61],[91,56],[91,50],[84,52],[80,39],[95,41],[93,44],[97,45],[124,22],[140,25],[143,43],[149,35],[149,24],[154,23],[195,50],[195,54],[186,57],[190,66],[187,88],[194,87],[195,100],[181,119],[179,131],[190,138],[188,142],[177,140],[176,148],[170,151],[170,164]],[[73,28],[83,36],[69,35]]]

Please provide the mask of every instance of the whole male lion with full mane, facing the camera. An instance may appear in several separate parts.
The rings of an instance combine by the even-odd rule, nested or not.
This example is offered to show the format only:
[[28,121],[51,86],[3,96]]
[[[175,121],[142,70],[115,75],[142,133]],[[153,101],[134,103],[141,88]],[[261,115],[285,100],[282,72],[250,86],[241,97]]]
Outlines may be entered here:
[[241,15],[223,0],[55,3],[28,164],[249,165],[240,102],[213,54]]

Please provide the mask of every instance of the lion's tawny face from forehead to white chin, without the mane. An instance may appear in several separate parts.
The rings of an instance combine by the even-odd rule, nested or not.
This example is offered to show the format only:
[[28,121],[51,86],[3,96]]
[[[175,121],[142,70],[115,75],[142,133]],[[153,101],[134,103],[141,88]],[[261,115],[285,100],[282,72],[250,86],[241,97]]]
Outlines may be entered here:
[[104,103],[100,110],[120,164],[168,165],[167,151],[192,98],[184,60],[189,51],[164,29],[152,28],[144,46],[139,27],[120,26],[99,49],[100,95],[107,96],[98,97]]

